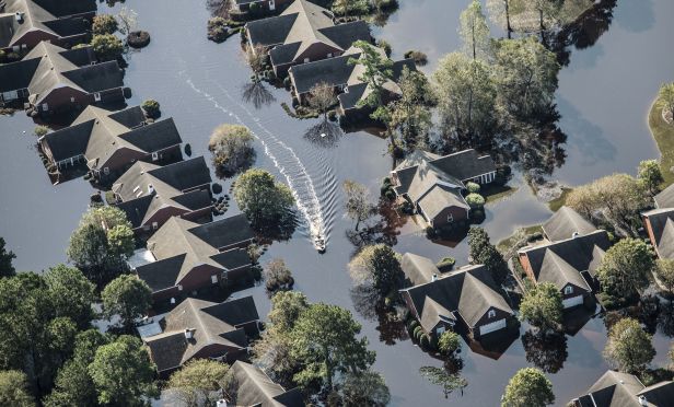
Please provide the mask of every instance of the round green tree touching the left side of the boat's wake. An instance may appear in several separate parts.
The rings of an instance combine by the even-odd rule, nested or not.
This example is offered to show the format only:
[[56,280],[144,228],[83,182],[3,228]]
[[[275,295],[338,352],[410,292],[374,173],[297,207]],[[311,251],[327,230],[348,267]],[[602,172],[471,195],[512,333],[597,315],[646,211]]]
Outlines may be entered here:
[[243,173],[234,186],[234,199],[258,231],[283,230],[294,222],[292,191],[265,170],[252,168]]

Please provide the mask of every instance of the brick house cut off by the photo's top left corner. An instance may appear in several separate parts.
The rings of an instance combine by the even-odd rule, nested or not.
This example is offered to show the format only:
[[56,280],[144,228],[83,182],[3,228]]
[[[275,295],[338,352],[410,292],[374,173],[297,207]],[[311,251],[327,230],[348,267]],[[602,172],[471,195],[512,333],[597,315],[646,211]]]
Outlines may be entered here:
[[20,53],[40,42],[65,48],[88,42],[95,0],[0,1],[0,49]]

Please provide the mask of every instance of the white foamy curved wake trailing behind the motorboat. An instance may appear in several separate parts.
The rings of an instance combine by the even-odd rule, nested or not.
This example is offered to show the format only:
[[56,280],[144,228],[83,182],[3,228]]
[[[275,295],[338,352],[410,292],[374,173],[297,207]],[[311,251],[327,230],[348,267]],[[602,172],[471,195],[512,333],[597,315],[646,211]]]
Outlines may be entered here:
[[[186,79],[186,83],[194,92],[200,94],[212,103],[213,107],[229,115],[240,125],[247,126],[240,115],[220,104],[216,96],[197,88],[190,78]],[[295,198],[298,209],[306,223],[309,237],[311,239],[314,247],[319,252],[324,252],[327,247],[328,240],[326,224],[324,221],[321,201],[318,200],[318,196],[316,194],[316,188],[314,187],[314,183],[309,175],[306,167],[295,154],[294,150],[269,131],[269,129],[260,123],[259,117],[253,115],[248,107],[236,101],[230,92],[228,92],[220,84],[217,84],[217,88],[222,92],[224,97],[231,102],[231,104],[241,108],[244,114],[255,123],[255,126],[259,131],[255,131],[255,129],[251,128],[253,137],[260,142],[265,151],[265,155],[274,162],[274,165],[286,178],[288,187]],[[247,127],[249,128],[251,126]]]

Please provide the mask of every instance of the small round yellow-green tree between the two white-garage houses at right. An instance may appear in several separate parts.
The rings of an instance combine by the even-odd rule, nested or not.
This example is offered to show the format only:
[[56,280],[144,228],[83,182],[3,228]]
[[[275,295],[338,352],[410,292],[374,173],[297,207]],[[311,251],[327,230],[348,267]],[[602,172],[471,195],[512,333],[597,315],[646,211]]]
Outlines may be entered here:
[[558,329],[562,312],[561,293],[551,282],[543,282],[527,290],[520,304],[520,319],[543,332]]

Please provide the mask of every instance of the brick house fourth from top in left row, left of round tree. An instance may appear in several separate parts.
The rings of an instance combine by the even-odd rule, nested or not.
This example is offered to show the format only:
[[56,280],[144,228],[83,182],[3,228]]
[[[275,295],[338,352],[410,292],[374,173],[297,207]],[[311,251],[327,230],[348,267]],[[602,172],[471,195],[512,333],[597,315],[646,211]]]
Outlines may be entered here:
[[171,217],[210,221],[211,181],[202,156],[165,166],[137,161],[112,191],[138,234],[158,230]]

